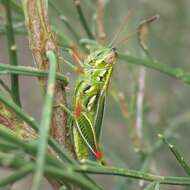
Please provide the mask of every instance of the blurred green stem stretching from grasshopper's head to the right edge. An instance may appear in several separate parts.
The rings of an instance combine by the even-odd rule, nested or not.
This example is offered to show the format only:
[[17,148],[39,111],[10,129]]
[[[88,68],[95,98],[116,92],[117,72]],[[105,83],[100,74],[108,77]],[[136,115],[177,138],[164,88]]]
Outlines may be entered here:
[[143,65],[150,69],[154,69],[161,73],[167,74],[168,76],[181,80],[184,83],[190,84],[190,73],[186,73],[181,68],[172,68],[166,64],[158,62],[157,60],[136,58],[124,53],[119,53],[119,58],[127,61],[130,64]]

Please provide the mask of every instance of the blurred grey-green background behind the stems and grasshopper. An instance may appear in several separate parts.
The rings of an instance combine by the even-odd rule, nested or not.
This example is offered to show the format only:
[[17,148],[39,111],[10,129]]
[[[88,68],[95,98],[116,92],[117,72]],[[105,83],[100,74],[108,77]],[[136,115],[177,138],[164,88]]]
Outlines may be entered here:
[[[161,63],[171,67],[180,67],[190,71],[190,1],[189,0],[104,0],[104,25],[106,40],[108,44],[114,34],[124,22],[126,15],[132,11],[132,16],[127,27],[121,32],[120,39],[134,33],[139,23],[152,15],[159,14],[160,19],[151,24],[149,31],[149,49],[153,57]],[[54,0],[56,6],[68,18],[80,38],[87,38],[78,19],[73,1]],[[96,9],[95,0],[81,0],[85,17],[89,25],[94,27],[94,14]],[[0,7],[2,9],[2,7]],[[65,25],[60,21],[52,7],[49,7],[50,19],[68,40],[72,35]],[[0,12],[2,12],[0,10]],[[0,13],[1,15],[2,13]],[[16,21],[17,15],[15,15]],[[1,19],[2,20],[2,19]],[[18,22],[20,22],[18,17]],[[33,65],[31,52],[28,47],[26,35],[18,35],[18,57],[19,64]],[[64,44],[63,44],[64,45]],[[143,57],[137,37],[133,36],[128,42],[118,47],[119,52],[128,52],[136,57]],[[0,61],[8,63],[6,51],[6,39],[0,36]],[[162,73],[145,69],[145,90],[143,103],[143,129],[141,146],[134,143],[132,137],[136,122],[136,97],[138,93],[138,80],[142,67],[129,65],[127,62],[118,60],[114,68],[110,92],[116,95],[123,93],[127,104],[128,118],[124,118],[121,106],[115,101],[111,93],[108,94],[106,111],[101,138],[102,149],[108,164],[120,167],[129,167],[140,170],[144,166],[143,155],[136,151],[148,152],[159,140],[158,133],[167,129],[176,128],[171,132],[170,142],[176,145],[184,158],[190,162],[189,156],[189,123],[190,123],[190,87],[181,81],[170,78]],[[74,82],[78,74],[63,65],[63,72],[69,77],[70,84],[67,89],[68,97],[73,94]],[[3,77],[9,81],[9,77]],[[42,97],[38,82],[33,78],[20,77],[20,90],[24,109],[35,118],[40,118]],[[69,98],[71,103],[71,99]],[[138,139],[136,139],[138,140]],[[146,156],[145,156],[146,157]],[[157,175],[186,176],[185,172],[177,163],[174,156],[166,145],[149,157],[145,167],[146,171]],[[140,190],[146,183],[139,180],[128,180],[121,177],[97,177],[105,189],[113,190]],[[161,185],[162,190],[188,190],[190,187]]]

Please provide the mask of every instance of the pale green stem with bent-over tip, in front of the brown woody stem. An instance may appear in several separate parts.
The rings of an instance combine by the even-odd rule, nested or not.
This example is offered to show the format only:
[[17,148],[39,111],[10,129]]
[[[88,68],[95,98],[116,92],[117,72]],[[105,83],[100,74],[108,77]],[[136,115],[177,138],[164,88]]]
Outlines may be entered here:
[[52,51],[46,52],[46,56],[49,60],[49,74],[47,82],[47,92],[45,96],[42,119],[39,129],[38,152],[36,160],[36,169],[32,183],[32,190],[41,189],[41,182],[45,167],[45,155],[47,152],[48,135],[51,125],[53,95],[54,95],[55,82],[56,82],[56,64],[57,64],[56,56]]

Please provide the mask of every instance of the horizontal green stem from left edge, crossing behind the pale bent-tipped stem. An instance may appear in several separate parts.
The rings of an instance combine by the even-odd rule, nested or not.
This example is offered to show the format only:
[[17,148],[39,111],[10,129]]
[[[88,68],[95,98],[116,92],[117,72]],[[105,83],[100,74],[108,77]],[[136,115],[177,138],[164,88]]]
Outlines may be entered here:
[[[34,67],[28,66],[14,66],[9,64],[0,63],[0,74],[15,74],[15,75],[23,75],[23,76],[32,76],[32,77],[47,77],[48,71],[40,70]],[[68,84],[66,77],[61,74],[56,74],[56,79],[61,80],[64,85]]]

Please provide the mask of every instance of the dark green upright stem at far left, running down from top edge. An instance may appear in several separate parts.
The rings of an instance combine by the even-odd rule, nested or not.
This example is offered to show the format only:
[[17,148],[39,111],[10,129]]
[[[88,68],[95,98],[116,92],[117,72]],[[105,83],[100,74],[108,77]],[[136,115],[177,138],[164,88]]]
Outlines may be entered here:
[[[11,65],[18,65],[16,44],[15,44],[14,31],[12,26],[10,0],[3,0],[3,3],[5,5],[5,10],[6,10],[6,32],[8,40],[9,59]],[[11,91],[14,102],[17,105],[21,106],[20,95],[19,95],[19,81],[18,81],[18,76],[15,74],[11,75]]]

